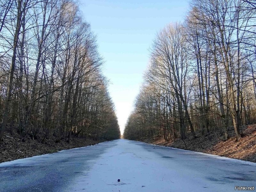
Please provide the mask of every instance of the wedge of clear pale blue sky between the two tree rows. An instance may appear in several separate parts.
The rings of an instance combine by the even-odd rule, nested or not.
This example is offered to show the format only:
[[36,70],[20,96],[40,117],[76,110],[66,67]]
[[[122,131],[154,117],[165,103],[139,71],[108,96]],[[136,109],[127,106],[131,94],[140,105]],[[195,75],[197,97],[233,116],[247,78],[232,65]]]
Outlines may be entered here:
[[80,9],[97,35],[105,60],[103,72],[123,133],[148,66],[156,33],[170,22],[183,21],[188,0],[86,0]]

